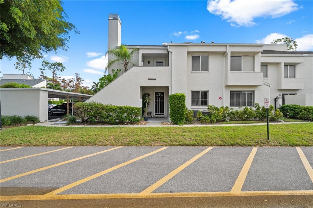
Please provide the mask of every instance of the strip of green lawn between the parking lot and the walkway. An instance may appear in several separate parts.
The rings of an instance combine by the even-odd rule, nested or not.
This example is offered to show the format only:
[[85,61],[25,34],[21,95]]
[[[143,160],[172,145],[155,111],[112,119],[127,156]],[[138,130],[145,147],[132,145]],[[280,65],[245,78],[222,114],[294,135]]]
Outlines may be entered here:
[[1,131],[2,146],[313,146],[313,123],[213,127],[44,127]]

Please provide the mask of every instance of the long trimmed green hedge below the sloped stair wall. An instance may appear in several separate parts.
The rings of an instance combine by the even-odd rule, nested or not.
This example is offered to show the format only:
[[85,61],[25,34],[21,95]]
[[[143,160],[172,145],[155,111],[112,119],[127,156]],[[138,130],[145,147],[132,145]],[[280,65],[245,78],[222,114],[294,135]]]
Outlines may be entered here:
[[141,108],[131,106],[105,105],[95,102],[74,104],[74,114],[82,122],[91,123],[138,123],[140,121]]

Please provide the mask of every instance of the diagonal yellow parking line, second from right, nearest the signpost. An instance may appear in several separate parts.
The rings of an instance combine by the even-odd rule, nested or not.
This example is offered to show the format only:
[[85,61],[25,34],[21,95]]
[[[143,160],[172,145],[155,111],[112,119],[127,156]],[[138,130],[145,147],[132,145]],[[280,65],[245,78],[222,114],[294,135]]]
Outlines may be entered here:
[[242,167],[242,169],[241,169],[241,171],[240,171],[240,173],[238,175],[238,178],[237,178],[237,180],[236,180],[235,184],[233,185],[233,188],[232,188],[232,190],[230,192],[232,192],[232,193],[239,193],[241,191],[241,188],[244,185],[244,181],[246,180],[248,171],[250,169],[250,166],[252,164],[254,155],[255,155],[257,150],[258,150],[257,147],[254,147],[252,149],[248,159],[244,163],[244,166]]

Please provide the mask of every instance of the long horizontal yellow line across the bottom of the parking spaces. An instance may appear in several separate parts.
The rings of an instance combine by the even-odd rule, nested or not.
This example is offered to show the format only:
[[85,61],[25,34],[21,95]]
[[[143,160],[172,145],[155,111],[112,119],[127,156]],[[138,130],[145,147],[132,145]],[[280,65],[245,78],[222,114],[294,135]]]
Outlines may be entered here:
[[2,201],[17,200],[73,200],[73,199],[123,199],[123,198],[165,198],[165,197],[218,197],[218,196],[272,196],[313,195],[313,190],[287,191],[241,191],[234,192],[182,192],[182,193],[127,193],[127,194],[61,194],[61,195],[10,195],[0,196]]

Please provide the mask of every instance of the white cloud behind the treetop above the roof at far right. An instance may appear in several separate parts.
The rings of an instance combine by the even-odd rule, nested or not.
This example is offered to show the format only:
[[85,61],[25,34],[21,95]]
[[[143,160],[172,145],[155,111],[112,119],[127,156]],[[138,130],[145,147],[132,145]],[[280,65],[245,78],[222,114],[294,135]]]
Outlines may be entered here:
[[[269,44],[275,39],[289,37],[285,34],[280,33],[270,33],[265,38],[261,40],[256,40],[256,43],[266,43]],[[313,50],[313,34],[307,34],[301,38],[294,39],[297,42],[297,51],[309,51]]]

